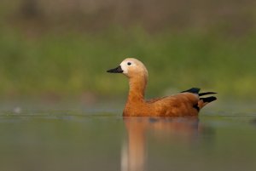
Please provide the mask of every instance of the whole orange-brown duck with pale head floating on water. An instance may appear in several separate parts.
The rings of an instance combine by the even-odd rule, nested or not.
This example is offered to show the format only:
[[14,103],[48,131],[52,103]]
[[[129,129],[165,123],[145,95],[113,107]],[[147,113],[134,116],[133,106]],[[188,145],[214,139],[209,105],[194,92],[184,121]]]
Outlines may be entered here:
[[129,79],[129,93],[123,117],[185,117],[198,116],[199,111],[208,103],[217,100],[215,96],[202,97],[215,92],[200,93],[200,88],[189,88],[177,94],[145,99],[148,83],[148,70],[143,62],[126,58],[109,73],[121,73]]

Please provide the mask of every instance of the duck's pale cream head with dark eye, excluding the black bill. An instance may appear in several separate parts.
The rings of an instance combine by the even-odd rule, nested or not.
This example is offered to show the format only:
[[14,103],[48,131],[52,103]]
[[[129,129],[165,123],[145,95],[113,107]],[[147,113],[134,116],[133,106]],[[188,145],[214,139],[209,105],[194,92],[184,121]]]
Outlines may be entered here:
[[135,58],[126,58],[120,64],[123,74],[127,77],[144,76],[148,78],[148,70],[143,62]]

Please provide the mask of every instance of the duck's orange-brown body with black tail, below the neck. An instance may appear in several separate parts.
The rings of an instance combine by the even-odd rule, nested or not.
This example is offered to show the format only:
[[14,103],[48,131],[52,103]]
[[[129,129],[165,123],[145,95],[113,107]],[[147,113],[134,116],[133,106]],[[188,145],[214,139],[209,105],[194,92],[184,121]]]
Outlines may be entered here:
[[[199,91],[198,91],[199,92]],[[184,117],[197,116],[199,111],[207,103],[216,100],[215,97],[201,98],[201,95],[215,94],[191,93],[184,91],[180,94],[156,98],[152,100],[134,102],[127,101],[124,116],[132,117]]]

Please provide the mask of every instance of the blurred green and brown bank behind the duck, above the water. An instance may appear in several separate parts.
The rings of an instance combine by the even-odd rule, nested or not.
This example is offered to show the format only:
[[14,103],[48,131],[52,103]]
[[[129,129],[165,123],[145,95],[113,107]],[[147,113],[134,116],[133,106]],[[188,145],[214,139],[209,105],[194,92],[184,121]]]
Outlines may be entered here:
[[124,99],[126,57],[148,98],[190,87],[256,95],[254,0],[1,0],[0,99]]

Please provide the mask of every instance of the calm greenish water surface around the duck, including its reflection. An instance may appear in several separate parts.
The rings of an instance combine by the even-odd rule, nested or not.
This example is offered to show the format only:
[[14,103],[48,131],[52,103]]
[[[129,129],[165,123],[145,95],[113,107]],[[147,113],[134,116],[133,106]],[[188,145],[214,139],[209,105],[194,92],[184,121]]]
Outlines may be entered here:
[[0,111],[1,171],[256,170],[253,105],[213,106],[198,118],[27,106]]

